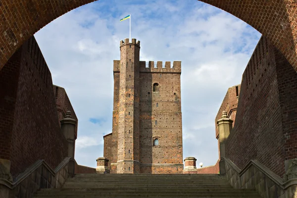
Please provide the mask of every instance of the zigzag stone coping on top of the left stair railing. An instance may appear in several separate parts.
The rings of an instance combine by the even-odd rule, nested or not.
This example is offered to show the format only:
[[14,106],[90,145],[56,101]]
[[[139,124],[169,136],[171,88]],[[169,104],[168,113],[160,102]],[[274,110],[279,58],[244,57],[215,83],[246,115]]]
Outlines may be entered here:
[[57,165],[57,167],[54,170],[52,170],[52,168],[49,166],[49,164],[44,159],[42,159],[42,160],[39,159],[34,164],[29,166],[29,168],[27,168],[23,173],[19,174],[14,179],[13,183],[11,183],[10,181],[8,181],[4,178],[0,178],[0,185],[4,185],[12,190],[18,184],[20,184],[24,179],[26,179],[28,176],[30,176],[41,165],[44,165],[49,170],[49,172],[52,174],[52,176],[55,176],[59,172],[59,170],[61,170],[71,160],[75,161],[75,159],[73,159],[73,158],[65,157],[63,159],[63,161],[61,161],[61,163],[59,163],[59,165]]

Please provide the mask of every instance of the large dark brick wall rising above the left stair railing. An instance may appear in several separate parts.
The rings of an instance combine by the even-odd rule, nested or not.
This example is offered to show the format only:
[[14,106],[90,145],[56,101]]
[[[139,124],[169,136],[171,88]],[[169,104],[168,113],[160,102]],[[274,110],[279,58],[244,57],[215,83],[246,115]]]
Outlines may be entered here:
[[[11,174],[15,177],[38,159],[55,168],[67,156],[68,148],[57,121],[51,74],[35,39],[27,41],[8,64],[15,70],[7,67],[0,74],[0,79],[6,80],[1,84],[1,106],[9,101],[8,115],[13,117],[10,128],[1,127],[1,132],[11,136]],[[15,78],[8,78],[10,75]]]

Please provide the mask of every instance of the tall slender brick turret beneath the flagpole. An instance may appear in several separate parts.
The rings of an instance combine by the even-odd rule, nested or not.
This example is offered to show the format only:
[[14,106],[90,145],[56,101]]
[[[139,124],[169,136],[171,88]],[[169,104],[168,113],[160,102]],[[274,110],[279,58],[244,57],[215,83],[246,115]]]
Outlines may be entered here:
[[139,173],[140,42],[120,44],[117,173]]

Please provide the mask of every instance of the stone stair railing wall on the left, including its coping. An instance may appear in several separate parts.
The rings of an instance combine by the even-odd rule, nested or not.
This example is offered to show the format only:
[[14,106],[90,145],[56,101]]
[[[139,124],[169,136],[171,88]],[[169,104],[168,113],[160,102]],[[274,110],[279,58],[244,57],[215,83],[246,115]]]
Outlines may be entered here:
[[0,198],[31,198],[42,188],[61,188],[68,177],[74,176],[75,160],[66,157],[54,170],[38,160],[13,182],[0,178]]

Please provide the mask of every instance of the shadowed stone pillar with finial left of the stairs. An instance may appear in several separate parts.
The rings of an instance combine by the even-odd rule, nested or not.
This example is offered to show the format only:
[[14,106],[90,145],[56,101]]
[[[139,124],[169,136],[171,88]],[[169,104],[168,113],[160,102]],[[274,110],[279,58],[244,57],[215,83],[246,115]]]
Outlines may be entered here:
[[61,131],[68,142],[68,157],[74,158],[74,145],[75,145],[75,125],[76,120],[72,118],[71,112],[66,112],[66,117],[61,121]]

